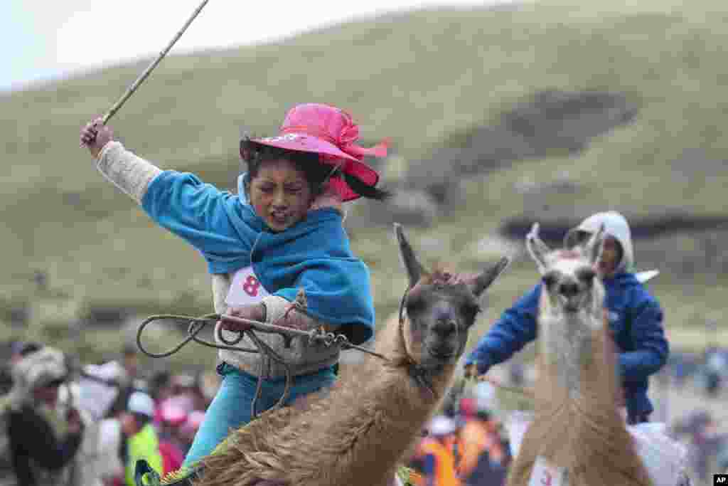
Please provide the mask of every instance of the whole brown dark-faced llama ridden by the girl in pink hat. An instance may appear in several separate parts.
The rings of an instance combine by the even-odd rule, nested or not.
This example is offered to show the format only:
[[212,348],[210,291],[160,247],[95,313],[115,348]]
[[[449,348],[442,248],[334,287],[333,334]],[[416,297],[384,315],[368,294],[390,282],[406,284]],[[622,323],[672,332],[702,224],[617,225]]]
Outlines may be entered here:
[[424,270],[395,224],[409,287],[400,318],[376,336],[356,372],[303,407],[265,412],[234,431],[202,461],[205,486],[383,486],[440,404],[480,310],[479,297],[502,273],[501,259],[479,275]]

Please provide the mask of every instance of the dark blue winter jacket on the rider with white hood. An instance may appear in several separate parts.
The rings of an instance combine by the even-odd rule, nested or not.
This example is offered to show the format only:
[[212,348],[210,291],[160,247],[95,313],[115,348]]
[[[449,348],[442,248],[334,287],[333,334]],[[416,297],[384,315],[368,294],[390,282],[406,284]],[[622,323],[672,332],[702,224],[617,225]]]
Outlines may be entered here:
[[[606,278],[604,287],[609,329],[620,350],[617,372],[622,378],[628,413],[650,413],[648,378],[665,364],[669,353],[660,303],[633,273]],[[483,374],[536,339],[540,296],[539,283],[501,315],[467,356],[465,364],[477,363],[478,372]]]

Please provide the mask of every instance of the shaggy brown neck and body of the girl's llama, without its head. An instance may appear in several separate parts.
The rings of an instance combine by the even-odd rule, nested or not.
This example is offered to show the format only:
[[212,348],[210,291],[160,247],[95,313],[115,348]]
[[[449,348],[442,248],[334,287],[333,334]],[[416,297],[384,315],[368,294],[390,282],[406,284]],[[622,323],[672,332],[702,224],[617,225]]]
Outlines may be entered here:
[[[248,485],[277,479],[288,485],[386,485],[397,460],[437,407],[454,364],[433,380],[438,396],[411,379],[395,318],[381,340],[397,342],[384,362],[368,357],[306,409],[261,415],[237,431],[226,452],[206,460],[204,485]],[[382,409],[386,404],[387,409]]]

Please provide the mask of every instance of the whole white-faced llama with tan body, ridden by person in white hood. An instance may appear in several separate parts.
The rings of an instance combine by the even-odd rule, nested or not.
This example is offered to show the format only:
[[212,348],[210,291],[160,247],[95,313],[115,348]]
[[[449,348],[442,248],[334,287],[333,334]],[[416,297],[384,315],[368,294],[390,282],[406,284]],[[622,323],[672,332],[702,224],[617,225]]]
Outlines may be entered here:
[[509,486],[652,485],[617,408],[620,388],[605,290],[594,270],[603,240],[604,227],[583,247],[550,251],[538,224],[526,236],[542,275],[539,375],[534,420]]

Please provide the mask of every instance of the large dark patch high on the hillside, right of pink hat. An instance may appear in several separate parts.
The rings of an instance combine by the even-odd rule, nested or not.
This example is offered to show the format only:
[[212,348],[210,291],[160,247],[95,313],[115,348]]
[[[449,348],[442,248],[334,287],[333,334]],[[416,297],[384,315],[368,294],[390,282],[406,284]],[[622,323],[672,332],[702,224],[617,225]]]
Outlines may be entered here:
[[542,91],[503,112],[496,125],[456,133],[427,159],[411,162],[404,184],[448,204],[456,201],[464,176],[581,152],[592,138],[628,124],[637,112],[622,93]]

